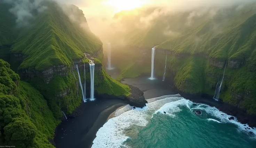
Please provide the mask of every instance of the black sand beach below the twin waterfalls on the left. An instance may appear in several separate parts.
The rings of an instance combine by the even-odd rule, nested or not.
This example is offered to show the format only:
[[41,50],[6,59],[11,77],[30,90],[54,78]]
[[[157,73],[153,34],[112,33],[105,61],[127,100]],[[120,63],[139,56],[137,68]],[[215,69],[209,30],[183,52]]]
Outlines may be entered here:
[[96,133],[110,114],[126,102],[119,99],[96,99],[86,102],[80,117],[63,121],[57,126],[56,148],[90,148]]

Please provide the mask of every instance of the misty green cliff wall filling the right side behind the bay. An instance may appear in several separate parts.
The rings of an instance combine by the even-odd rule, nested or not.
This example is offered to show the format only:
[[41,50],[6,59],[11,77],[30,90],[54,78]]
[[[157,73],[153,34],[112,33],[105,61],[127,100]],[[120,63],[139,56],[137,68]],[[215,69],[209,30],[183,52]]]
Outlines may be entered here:
[[[249,3],[169,13],[163,8],[137,9],[115,15],[126,28],[111,38],[119,79],[149,74],[151,48],[157,46],[154,69],[160,79],[168,54],[166,81],[185,93],[214,96],[226,65],[221,100],[256,114],[255,8]],[[126,25],[128,20],[135,23]],[[126,47],[118,44],[117,37],[125,40]],[[122,48],[128,56],[120,60]]]

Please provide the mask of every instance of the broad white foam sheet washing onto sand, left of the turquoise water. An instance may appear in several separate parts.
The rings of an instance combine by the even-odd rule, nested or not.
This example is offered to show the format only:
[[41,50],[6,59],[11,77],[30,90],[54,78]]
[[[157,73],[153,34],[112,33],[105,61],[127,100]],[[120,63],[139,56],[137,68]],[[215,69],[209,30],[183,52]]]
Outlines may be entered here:
[[[123,144],[130,137],[123,132],[131,125],[146,126],[152,114],[166,103],[183,98],[165,98],[147,104],[144,108],[129,110],[107,121],[96,134],[92,148],[119,148],[127,147]],[[122,108],[121,108],[122,109]],[[119,109],[120,110],[120,109]]]

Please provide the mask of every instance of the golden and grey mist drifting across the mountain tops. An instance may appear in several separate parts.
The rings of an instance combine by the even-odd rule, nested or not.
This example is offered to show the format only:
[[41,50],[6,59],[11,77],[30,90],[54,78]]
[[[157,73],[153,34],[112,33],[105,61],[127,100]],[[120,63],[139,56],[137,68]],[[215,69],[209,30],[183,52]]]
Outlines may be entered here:
[[[16,16],[18,25],[27,25],[34,18],[32,11],[36,10],[42,13],[47,9],[43,5],[45,0],[3,0],[10,3],[13,7],[9,10]],[[220,9],[236,7],[239,11],[248,3],[256,0],[144,0],[142,8],[134,10],[125,10],[118,12],[120,8],[106,5],[107,0],[50,0],[59,3],[65,11],[65,7],[70,4],[78,6],[86,17],[90,30],[95,33],[103,42],[111,42],[118,39],[124,42],[124,34],[132,31],[144,31],[155,25],[155,20],[162,16],[176,15],[179,13],[187,13],[184,24],[187,27],[193,26],[197,18],[208,17],[214,18],[220,15]],[[125,1],[125,0],[124,0]],[[118,15],[117,15],[118,13]],[[74,22],[81,22],[81,27],[88,27],[84,16],[75,16],[66,13]],[[225,14],[221,14],[225,15]],[[171,20],[171,17],[169,17]],[[172,28],[167,21],[166,26],[159,33],[162,35],[175,37],[182,33],[177,30],[178,27]],[[213,22],[213,27],[219,28],[219,24]],[[121,41],[122,40],[122,41]]]

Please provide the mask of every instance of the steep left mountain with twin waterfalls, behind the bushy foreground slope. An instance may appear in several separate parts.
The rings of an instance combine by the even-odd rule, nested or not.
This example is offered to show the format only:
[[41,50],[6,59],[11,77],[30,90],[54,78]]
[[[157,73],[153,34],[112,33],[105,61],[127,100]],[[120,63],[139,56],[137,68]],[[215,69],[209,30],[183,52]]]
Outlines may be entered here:
[[[1,4],[6,6],[0,6],[0,10],[4,10],[0,14],[1,19],[5,14],[12,15],[8,10],[11,5]],[[78,72],[82,83],[86,79],[87,91],[90,92],[87,56],[95,60],[95,93],[128,95],[128,86],[111,79],[105,73],[100,61],[103,59],[102,42],[90,31],[82,10],[74,5],[60,7],[52,1],[42,1],[40,6],[46,6],[46,9],[31,11],[33,19],[30,19],[30,25],[19,27],[19,35],[13,38],[9,38],[3,30],[16,31],[13,29],[16,18],[11,17],[12,25],[5,24],[8,21],[3,23],[5,28],[0,28],[0,32],[9,40],[0,42],[0,53],[5,52],[2,49],[6,48],[6,44],[10,45],[6,54],[11,67],[22,80],[40,91],[54,117],[61,118],[61,110],[70,114],[81,104]],[[76,64],[79,71],[76,70]]]

